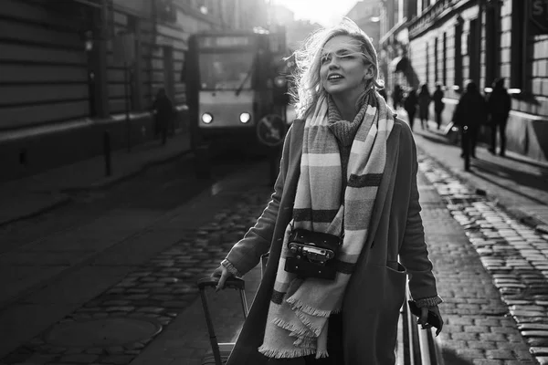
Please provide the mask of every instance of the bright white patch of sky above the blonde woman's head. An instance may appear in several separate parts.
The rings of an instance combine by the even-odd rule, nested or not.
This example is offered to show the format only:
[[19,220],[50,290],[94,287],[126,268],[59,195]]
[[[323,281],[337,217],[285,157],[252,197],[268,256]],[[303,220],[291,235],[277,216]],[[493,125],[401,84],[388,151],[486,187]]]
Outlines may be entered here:
[[321,26],[332,26],[348,13],[357,0],[270,0],[295,13],[295,19],[309,19]]

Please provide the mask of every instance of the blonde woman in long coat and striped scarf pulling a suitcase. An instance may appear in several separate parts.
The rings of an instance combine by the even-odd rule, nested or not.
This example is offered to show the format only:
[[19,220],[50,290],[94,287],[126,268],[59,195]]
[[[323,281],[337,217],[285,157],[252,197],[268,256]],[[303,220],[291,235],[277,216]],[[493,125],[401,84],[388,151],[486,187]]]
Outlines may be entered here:
[[[376,51],[351,20],[313,33],[296,56],[298,118],[272,199],[213,273],[220,289],[269,252],[227,364],[394,364],[406,274],[425,328],[441,303],[419,214],[413,135],[377,92]],[[288,248],[312,254],[306,242],[324,245],[327,237],[342,241],[331,251],[331,279],[316,277],[318,266],[334,270],[333,261],[321,266],[325,252],[307,261]],[[295,274],[300,264],[306,269]]]

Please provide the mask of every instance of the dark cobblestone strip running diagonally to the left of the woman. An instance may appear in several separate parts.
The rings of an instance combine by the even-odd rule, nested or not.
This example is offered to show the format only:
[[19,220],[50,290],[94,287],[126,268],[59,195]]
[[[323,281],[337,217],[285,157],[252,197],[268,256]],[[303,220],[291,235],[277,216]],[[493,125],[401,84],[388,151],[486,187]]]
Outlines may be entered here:
[[[235,197],[231,209],[219,211],[209,224],[186,232],[183,240],[12,351],[0,364],[130,363],[161,333],[158,329],[168,326],[195,301],[196,279],[218,266],[255,222],[268,196],[266,189],[258,188]],[[155,324],[156,329],[143,330],[146,323]],[[120,326],[125,333],[112,333]],[[125,341],[132,329],[129,326],[137,326],[131,342]]]

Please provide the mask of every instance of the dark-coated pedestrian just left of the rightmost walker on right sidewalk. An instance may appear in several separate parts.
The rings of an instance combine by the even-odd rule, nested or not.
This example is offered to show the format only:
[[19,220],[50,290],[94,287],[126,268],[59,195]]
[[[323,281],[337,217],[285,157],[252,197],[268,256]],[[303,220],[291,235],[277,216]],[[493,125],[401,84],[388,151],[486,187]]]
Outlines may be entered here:
[[476,141],[479,126],[487,120],[487,104],[474,81],[469,81],[466,91],[458,100],[453,122],[460,127],[462,153],[476,158]]

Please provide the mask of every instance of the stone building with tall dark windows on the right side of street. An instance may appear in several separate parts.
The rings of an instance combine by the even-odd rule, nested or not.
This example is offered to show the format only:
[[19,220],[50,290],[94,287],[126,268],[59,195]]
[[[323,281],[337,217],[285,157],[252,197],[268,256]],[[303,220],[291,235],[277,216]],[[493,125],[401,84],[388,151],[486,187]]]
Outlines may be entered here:
[[426,83],[432,92],[441,84],[447,123],[467,80],[488,96],[492,81],[505,78],[512,99],[507,149],[548,162],[547,7],[541,0],[386,0],[387,85]]

